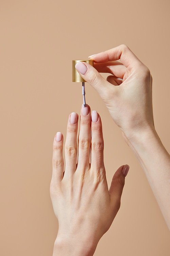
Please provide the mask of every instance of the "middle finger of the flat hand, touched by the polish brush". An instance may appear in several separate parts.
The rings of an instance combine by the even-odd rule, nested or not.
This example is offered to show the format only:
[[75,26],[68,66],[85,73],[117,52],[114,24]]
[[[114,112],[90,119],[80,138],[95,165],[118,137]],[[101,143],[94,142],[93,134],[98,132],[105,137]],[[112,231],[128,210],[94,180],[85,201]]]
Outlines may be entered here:
[[86,104],[81,108],[80,132],[78,138],[78,169],[89,169],[90,144],[91,144],[91,113],[90,107]]

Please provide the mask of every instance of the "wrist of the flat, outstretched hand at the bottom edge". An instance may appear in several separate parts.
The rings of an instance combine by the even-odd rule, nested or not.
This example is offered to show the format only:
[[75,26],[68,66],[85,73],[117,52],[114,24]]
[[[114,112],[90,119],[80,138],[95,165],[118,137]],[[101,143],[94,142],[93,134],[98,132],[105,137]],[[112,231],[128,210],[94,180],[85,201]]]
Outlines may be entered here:
[[91,236],[85,237],[85,234],[75,237],[74,234],[57,235],[54,243],[53,256],[92,256],[97,247],[95,239]]

